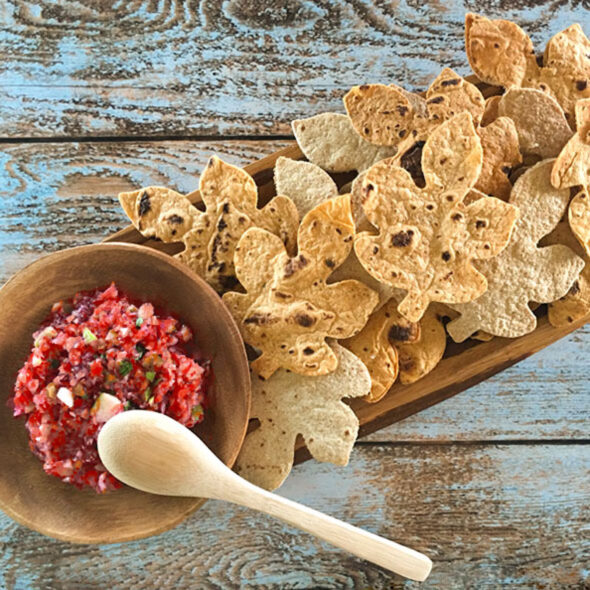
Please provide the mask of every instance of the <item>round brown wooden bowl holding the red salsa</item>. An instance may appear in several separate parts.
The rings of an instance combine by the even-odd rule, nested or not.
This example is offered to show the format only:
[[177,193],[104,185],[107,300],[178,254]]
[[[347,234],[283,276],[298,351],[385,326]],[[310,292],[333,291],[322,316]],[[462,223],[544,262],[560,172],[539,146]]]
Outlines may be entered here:
[[0,508],[40,533],[75,543],[116,543],[155,535],[199,508],[199,498],[154,496],[123,487],[97,494],[47,475],[29,450],[23,418],[7,405],[32,334],[56,301],[114,281],[138,299],[178,315],[212,359],[211,407],[197,434],[228,466],[242,444],[250,375],[237,326],[218,295],[174,258],[131,244],[97,244],[51,254],[0,289]]

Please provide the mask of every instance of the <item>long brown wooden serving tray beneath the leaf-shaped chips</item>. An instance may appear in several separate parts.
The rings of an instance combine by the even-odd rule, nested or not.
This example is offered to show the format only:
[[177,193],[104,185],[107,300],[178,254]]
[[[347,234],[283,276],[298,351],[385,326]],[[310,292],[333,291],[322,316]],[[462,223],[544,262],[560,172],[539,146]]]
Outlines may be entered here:
[[[294,142],[292,146],[244,167],[258,185],[261,204],[275,195],[273,169],[280,156],[297,160],[304,158]],[[348,178],[346,175],[336,175],[335,179],[341,185],[350,177],[350,175]],[[198,191],[190,193],[188,197],[199,206],[201,198]],[[164,244],[144,238],[133,226],[128,226],[109,236],[105,241],[144,244],[171,254],[181,249],[181,246],[177,244]],[[537,329],[526,336],[493,338],[489,342],[467,340],[461,344],[449,341],[442,361],[426,377],[411,385],[395,383],[387,395],[374,404],[360,399],[351,400],[351,407],[361,424],[359,436],[374,432],[452,397],[531,356],[590,321],[590,316],[586,316],[567,327],[554,328],[547,320],[546,306],[539,308],[537,314],[539,315]],[[306,457],[306,449],[300,447],[297,460],[301,461]]]

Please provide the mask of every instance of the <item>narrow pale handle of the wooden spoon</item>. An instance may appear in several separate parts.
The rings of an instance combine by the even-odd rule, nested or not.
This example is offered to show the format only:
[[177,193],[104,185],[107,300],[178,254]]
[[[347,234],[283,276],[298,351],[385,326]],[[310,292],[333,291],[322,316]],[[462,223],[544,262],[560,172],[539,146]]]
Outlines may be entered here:
[[[298,529],[328,541],[340,549],[410,580],[422,582],[432,569],[432,561],[418,551],[354,527],[282,496],[271,494],[242,478],[238,477],[238,479],[240,480],[238,485],[225,488],[221,499],[270,514]],[[234,481],[234,484],[237,482]]]

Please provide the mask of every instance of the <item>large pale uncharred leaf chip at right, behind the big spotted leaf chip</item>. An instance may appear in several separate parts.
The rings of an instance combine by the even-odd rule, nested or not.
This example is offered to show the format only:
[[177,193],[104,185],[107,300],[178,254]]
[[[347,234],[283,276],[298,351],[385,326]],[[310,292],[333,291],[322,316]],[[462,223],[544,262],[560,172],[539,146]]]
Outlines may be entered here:
[[447,324],[456,342],[477,330],[506,338],[532,332],[537,318],[529,302],[563,297],[580,274],[584,261],[567,246],[537,246],[557,226],[569,202],[568,189],[551,185],[553,163],[544,160],[516,181],[510,203],[519,208],[520,217],[510,243],[496,258],[477,265],[488,290],[471,303],[450,306],[461,314]]

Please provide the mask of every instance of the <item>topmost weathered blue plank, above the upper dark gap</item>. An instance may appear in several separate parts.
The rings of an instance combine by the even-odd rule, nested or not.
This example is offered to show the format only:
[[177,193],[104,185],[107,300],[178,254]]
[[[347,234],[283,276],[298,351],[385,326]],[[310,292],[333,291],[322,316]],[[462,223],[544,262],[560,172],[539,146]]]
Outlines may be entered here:
[[517,20],[540,48],[588,25],[578,0],[7,0],[0,137],[289,134],[294,118],[340,110],[354,84],[468,73],[473,9]]

